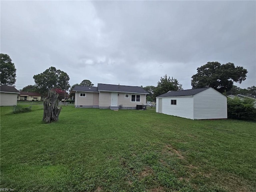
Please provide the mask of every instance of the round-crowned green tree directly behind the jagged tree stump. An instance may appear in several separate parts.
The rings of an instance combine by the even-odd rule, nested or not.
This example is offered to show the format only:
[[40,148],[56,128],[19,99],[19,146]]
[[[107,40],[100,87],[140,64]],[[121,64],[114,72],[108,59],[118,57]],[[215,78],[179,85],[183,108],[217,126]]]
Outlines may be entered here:
[[69,76],[66,72],[57,70],[55,67],[50,67],[44,72],[33,76],[35,86],[38,87],[38,92],[47,95],[49,90],[60,88],[61,90],[68,90]]

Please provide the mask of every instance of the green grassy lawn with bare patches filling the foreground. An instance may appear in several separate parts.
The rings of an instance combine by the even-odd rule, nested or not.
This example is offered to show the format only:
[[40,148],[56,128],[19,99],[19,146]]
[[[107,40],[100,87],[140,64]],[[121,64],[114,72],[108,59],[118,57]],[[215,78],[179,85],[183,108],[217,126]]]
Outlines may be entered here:
[[1,188],[15,191],[256,191],[256,122],[189,120],[154,109],[1,107]]

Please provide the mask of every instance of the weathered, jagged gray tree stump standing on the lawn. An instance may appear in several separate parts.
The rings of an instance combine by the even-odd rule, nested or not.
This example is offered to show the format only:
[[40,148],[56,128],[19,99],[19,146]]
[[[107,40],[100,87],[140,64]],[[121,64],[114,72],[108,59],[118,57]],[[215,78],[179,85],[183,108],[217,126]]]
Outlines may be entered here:
[[58,121],[61,107],[58,107],[59,94],[56,94],[54,91],[49,91],[47,98],[44,100],[44,116],[43,121],[50,123],[53,121]]

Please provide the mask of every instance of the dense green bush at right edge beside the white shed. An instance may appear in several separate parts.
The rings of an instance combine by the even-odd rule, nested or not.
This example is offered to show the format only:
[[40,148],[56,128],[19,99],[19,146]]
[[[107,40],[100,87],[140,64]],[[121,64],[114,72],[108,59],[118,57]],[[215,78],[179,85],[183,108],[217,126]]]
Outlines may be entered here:
[[254,100],[250,98],[228,98],[228,118],[239,120],[256,120]]

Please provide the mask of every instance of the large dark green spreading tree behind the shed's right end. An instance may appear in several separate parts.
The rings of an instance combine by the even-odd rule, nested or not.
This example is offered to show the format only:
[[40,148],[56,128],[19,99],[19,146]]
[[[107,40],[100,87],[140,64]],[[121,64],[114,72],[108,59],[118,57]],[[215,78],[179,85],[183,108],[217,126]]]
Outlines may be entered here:
[[247,70],[233,63],[220,64],[219,62],[208,62],[197,68],[197,73],[192,76],[192,88],[212,87],[218,92],[228,92],[232,89],[234,82],[246,79]]

